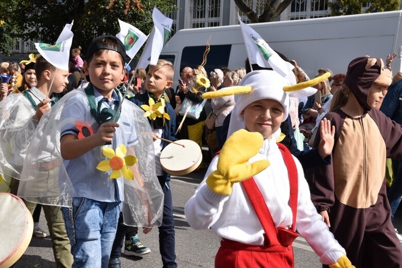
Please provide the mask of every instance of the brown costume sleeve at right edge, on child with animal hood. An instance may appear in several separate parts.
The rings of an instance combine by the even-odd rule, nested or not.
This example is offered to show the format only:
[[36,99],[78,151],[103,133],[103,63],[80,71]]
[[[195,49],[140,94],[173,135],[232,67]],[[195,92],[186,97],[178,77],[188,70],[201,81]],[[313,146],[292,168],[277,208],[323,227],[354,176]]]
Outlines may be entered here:
[[375,109],[368,113],[376,122],[384,139],[387,158],[402,159],[402,126]]

